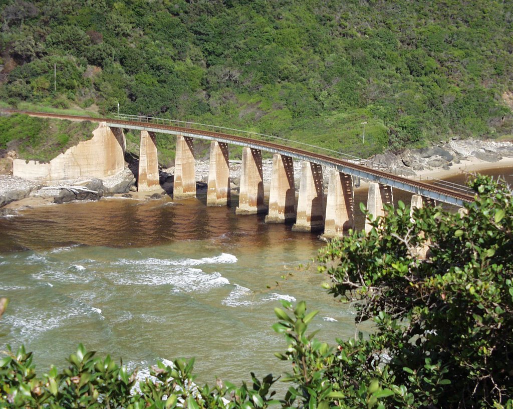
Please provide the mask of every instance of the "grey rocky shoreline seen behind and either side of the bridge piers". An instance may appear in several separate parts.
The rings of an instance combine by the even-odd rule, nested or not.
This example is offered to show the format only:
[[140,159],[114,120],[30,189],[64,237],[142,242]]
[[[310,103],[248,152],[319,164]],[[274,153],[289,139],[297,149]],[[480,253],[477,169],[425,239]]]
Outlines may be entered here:
[[[506,160],[508,158],[508,160]],[[509,160],[511,158],[511,160]],[[448,174],[463,172],[468,164],[477,168],[487,168],[497,163],[507,162],[504,166],[513,166],[513,143],[452,140],[439,146],[422,149],[405,149],[401,153],[387,152],[370,158],[373,166],[393,168],[394,173],[410,175],[431,175],[443,177]],[[207,189],[209,162],[196,160],[196,186],[199,191]],[[133,166],[129,166],[133,170]],[[123,195],[139,199],[156,199],[170,195],[173,190],[174,167],[162,169],[160,172],[161,187],[153,192],[137,193],[136,180],[129,169],[125,168],[119,174],[108,178],[62,180],[53,183],[43,183],[18,178],[12,175],[0,174],[0,207],[30,197],[43,200],[45,203],[66,203],[73,200],[98,200],[102,197]],[[325,183],[327,170],[324,169]],[[299,188],[301,162],[294,162],[296,186]],[[269,188],[272,177],[272,161],[263,161],[264,186]],[[238,194],[241,178],[241,161],[230,161],[230,180],[233,194]],[[80,189],[73,189],[79,186]],[[53,188],[51,188],[53,187]],[[89,192],[85,191],[89,190]],[[92,192],[91,192],[92,191]]]

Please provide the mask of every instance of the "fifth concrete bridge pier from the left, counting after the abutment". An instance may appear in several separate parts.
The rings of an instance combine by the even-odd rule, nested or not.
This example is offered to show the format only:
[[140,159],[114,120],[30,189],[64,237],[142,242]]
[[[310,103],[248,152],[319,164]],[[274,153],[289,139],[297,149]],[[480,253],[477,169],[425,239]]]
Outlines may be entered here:
[[295,219],[294,163],[291,157],[272,156],[269,213],[266,223],[286,223]]

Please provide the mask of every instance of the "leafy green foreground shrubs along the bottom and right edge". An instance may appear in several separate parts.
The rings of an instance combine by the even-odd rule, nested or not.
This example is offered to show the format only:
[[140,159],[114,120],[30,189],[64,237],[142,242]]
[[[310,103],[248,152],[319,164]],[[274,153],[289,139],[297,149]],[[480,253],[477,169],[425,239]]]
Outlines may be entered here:
[[[438,207],[410,216],[400,204],[368,235],[351,232],[320,252],[326,287],[354,303],[357,325],[372,319],[376,330],[329,347],[308,334],[317,312],[283,301],[273,326],[288,344],[276,355],[291,362],[282,396],[272,391],[273,375],[251,374],[240,387],[221,379],[195,385],[193,359],[157,364],[135,390],[134,372],[83,346],[68,368],[36,376],[21,348],[0,359],[0,406],[511,409],[513,192],[488,177],[471,186],[477,201],[463,217]],[[426,260],[417,257],[423,245]]]

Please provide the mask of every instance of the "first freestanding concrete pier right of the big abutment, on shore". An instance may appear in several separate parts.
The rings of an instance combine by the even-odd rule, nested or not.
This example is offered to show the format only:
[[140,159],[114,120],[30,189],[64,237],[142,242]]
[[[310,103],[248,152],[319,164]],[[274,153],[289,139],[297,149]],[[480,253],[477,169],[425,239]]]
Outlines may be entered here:
[[155,190],[159,186],[159,161],[155,133],[141,131],[137,191]]

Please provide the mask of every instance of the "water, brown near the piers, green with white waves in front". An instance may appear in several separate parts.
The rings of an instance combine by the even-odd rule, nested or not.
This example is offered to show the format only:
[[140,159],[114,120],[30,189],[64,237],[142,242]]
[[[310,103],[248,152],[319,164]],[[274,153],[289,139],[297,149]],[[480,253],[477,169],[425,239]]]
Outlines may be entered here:
[[[513,183],[511,168],[487,173]],[[356,191],[359,228],[366,195]],[[395,190],[398,200],[409,204],[409,195]],[[287,347],[271,329],[279,299],[320,310],[310,329],[332,345],[354,336],[352,308],[326,294],[324,277],[307,266],[323,245],[317,234],[235,216],[236,205],[116,198],[0,218],[0,296],[11,299],[0,351],[24,343],[46,372],[83,342],[142,376],[157,359],[195,356],[200,383],[238,382],[250,371],[288,370],[273,356]]]

